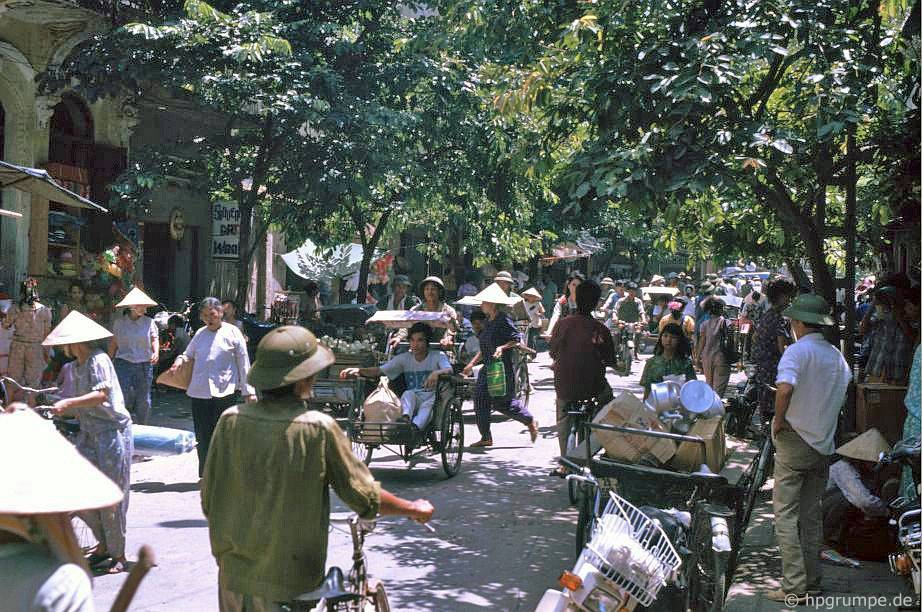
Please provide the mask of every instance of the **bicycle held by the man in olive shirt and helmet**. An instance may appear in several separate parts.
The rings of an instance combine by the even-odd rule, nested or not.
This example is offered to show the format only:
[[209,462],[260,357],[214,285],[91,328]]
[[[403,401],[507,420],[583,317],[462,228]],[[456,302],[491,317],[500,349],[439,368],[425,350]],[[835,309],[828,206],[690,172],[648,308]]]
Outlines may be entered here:
[[[367,521],[351,512],[330,515],[330,525],[348,525],[352,536],[352,569],[348,576],[339,567],[331,567],[323,583],[313,591],[304,593],[286,606],[290,612],[390,612],[384,583],[368,576],[365,558],[365,536],[374,531],[375,521]],[[348,589],[346,588],[348,584]]]

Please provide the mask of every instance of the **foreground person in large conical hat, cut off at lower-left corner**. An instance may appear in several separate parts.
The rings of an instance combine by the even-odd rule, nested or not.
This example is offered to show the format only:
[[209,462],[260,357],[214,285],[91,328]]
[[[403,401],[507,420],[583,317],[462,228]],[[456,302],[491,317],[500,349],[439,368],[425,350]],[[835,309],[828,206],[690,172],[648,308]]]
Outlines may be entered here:
[[24,404],[0,412],[0,593],[4,610],[92,612],[93,592],[71,514],[122,492]]

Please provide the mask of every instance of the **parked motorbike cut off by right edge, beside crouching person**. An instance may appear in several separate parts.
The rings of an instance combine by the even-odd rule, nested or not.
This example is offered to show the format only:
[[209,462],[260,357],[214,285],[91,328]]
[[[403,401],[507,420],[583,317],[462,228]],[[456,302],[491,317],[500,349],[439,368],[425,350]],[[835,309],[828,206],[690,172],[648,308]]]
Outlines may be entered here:
[[919,500],[920,438],[897,442],[890,453],[881,453],[879,464],[904,465],[912,470],[916,494],[890,502],[890,525],[896,528],[899,550],[890,554],[890,571],[906,576],[916,594],[920,593],[920,555],[922,555],[922,507]]

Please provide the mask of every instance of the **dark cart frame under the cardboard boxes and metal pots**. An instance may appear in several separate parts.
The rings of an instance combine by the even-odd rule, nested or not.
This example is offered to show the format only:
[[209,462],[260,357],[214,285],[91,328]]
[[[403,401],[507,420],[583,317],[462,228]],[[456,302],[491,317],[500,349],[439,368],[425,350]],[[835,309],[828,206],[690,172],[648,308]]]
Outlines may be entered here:
[[704,444],[702,438],[600,423],[585,426],[589,442],[581,444],[562,461],[571,469],[578,467],[591,482],[599,483],[592,490],[584,488],[579,496],[577,545],[581,547],[591,537],[596,519],[603,510],[603,500],[607,498],[606,489],[616,491],[645,512],[655,513],[667,508],[688,511],[690,524],[680,542],[686,551],[683,553],[683,575],[677,581],[678,592],[673,595],[684,598],[687,610],[719,611],[755,503],[754,493],[764,481],[765,474],[760,470],[765,469],[767,457],[763,455],[771,453],[770,445],[760,446],[753,441],[727,436],[729,453],[720,473],[705,469],[678,472],[610,459],[590,437],[591,431],[599,429]]

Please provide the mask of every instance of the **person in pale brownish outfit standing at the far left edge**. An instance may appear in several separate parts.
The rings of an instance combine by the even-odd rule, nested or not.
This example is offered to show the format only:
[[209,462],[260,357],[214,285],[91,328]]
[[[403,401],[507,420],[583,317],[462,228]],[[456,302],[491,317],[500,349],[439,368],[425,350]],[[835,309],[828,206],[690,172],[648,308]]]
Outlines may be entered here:
[[48,364],[48,349],[42,348],[42,339],[51,331],[51,309],[39,301],[38,281],[34,278],[22,281],[19,302],[4,317],[3,327],[15,328],[10,344],[9,377],[25,387],[40,387],[42,372]]

